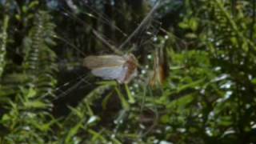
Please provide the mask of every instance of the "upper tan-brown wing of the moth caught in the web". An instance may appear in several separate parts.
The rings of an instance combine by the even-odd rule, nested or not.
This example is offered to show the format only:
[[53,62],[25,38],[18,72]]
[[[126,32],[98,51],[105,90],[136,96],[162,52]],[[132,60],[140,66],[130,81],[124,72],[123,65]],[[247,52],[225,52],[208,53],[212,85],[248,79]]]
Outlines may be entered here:
[[126,59],[118,55],[102,55],[88,56],[83,61],[83,66],[88,69],[96,69],[100,67],[122,66]]

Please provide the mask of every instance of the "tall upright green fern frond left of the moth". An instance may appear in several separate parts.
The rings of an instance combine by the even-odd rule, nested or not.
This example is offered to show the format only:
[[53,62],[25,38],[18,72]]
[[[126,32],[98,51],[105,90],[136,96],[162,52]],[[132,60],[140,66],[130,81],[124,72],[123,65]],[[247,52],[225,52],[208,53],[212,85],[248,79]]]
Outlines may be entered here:
[[31,80],[28,85],[38,90],[38,96],[53,91],[56,83],[54,74],[57,65],[54,62],[57,56],[50,49],[50,46],[55,45],[53,39],[55,25],[50,21],[50,15],[45,11],[36,14],[26,47],[24,68],[26,73],[30,74]]

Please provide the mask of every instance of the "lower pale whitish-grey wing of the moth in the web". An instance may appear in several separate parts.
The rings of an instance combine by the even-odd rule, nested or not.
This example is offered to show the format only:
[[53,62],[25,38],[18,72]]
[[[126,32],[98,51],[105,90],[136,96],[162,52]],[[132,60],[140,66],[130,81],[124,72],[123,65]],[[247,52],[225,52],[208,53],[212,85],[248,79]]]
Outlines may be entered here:
[[126,71],[126,67],[111,66],[93,69],[91,72],[95,76],[101,77],[103,79],[117,79],[118,82],[122,82],[126,77]]

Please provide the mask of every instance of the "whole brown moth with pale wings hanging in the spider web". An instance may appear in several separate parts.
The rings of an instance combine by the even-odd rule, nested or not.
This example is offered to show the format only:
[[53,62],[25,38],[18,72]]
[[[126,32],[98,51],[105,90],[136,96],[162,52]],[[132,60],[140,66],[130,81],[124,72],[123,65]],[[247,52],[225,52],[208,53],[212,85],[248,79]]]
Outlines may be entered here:
[[88,56],[83,66],[91,73],[103,79],[114,79],[119,83],[128,83],[137,75],[138,62],[134,54]]

